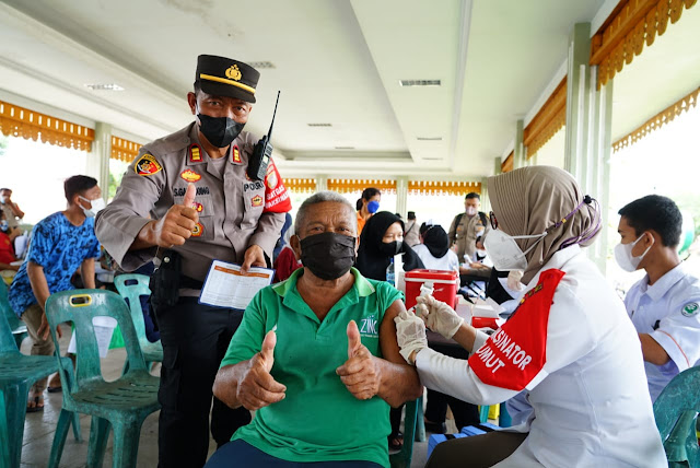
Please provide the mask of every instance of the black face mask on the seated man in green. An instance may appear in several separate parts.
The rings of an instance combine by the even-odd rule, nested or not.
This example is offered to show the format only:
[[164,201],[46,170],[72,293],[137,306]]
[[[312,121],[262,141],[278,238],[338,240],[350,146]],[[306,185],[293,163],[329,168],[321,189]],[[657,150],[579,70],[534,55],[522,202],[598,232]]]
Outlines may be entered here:
[[350,271],[354,264],[355,238],[323,233],[301,241],[302,264],[322,280],[335,280]]

